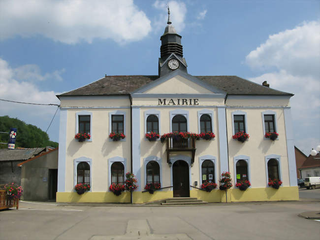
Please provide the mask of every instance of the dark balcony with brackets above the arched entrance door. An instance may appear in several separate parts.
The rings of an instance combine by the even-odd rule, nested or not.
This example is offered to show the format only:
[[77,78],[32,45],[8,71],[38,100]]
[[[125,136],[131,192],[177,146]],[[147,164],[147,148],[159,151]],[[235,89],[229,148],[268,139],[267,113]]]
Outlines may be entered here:
[[191,152],[191,165],[194,163],[194,155],[195,155],[195,139],[190,138],[176,138],[176,137],[168,137],[165,139],[166,141],[166,152],[167,152],[167,163],[170,162],[170,152]]

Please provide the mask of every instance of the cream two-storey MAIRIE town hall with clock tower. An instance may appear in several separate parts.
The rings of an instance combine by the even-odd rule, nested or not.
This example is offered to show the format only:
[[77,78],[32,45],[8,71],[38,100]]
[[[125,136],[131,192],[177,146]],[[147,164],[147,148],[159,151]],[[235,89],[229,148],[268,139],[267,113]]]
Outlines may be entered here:
[[[158,75],[106,75],[57,96],[57,202],[299,199],[289,104],[293,95],[237,76],[190,75],[181,38],[169,15],[160,37]],[[79,133],[90,138],[79,141]],[[146,137],[150,133],[160,138]],[[122,137],[111,138],[113,134]],[[233,186],[224,191],[219,187],[226,171]],[[109,190],[125,183],[126,172],[137,179],[132,199],[128,191],[117,196]],[[251,185],[241,191],[236,183],[245,181]],[[282,183],[276,189],[270,181]],[[89,184],[90,190],[78,194],[79,183]],[[217,188],[203,191],[204,183]],[[160,184],[160,189],[151,194],[147,184]]]

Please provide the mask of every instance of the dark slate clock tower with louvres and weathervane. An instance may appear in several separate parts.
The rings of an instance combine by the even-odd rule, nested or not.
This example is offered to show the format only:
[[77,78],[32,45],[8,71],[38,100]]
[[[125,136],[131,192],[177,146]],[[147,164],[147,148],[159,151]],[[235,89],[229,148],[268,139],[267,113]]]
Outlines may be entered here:
[[169,7],[167,26],[160,40],[159,77],[176,69],[187,73],[187,62],[183,58],[181,36],[172,26]]

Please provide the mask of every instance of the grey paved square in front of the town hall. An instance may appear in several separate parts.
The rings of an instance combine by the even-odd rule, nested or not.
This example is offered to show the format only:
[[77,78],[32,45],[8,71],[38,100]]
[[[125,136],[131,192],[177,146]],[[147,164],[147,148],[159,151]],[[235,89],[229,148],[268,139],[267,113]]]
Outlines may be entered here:
[[298,217],[318,202],[208,206],[56,206],[0,211],[1,240],[319,240],[320,222]]

